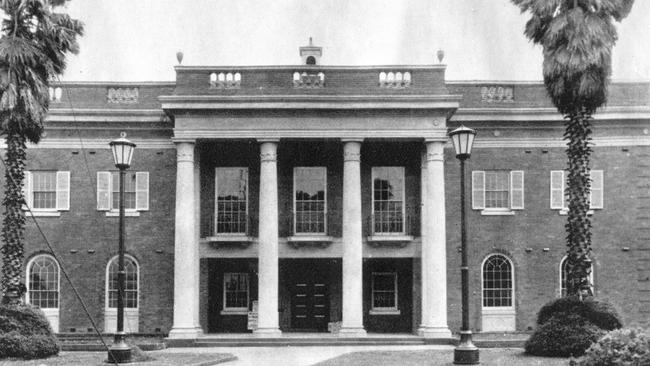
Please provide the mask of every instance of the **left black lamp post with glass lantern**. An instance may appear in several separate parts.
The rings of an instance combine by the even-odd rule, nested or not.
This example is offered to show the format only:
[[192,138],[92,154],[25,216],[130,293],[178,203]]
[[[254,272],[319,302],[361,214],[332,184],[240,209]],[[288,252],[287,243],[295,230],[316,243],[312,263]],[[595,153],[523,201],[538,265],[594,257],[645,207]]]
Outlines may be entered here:
[[119,252],[117,268],[117,330],[113,345],[108,349],[108,361],[112,363],[131,362],[131,348],[124,342],[124,287],[126,273],[124,271],[124,175],[131,166],[131,158],[135,144],[126,139],[122,132],[120,138],[109,143],[113,151],[115,167],[120,170],[120,224]]

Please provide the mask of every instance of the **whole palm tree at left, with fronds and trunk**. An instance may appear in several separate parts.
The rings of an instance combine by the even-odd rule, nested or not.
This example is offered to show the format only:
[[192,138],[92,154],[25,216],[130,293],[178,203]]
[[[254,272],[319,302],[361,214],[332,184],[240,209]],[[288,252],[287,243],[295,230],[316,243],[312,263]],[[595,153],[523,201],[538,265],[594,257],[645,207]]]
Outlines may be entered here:
[[3,302],[18,303],[25,286],[23,236],[26,142],[38,143],[48,111],[49,81],[61,75],[66,54],[79,49],[83,24],[55,12],[69,0],[0,0],[0,134],[5,136],[5,215],[2,222]]

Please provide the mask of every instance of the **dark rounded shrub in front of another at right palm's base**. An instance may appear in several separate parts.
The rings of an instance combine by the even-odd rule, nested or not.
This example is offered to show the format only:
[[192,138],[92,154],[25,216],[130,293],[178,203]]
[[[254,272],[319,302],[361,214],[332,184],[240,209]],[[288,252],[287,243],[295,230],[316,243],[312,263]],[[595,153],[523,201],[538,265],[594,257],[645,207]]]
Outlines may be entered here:
[[581,356],[605,331],[580,315],[551,316],[526,341],[526,353],[536,356]]

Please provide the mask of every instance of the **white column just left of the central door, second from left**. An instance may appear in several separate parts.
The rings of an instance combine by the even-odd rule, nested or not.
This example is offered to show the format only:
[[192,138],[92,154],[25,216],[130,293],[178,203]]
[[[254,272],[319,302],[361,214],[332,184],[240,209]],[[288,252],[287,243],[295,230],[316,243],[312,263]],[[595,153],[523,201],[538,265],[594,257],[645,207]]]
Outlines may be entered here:
[[278,140],[260,141],[258,328],[260,336],[281,334],[278,315]]

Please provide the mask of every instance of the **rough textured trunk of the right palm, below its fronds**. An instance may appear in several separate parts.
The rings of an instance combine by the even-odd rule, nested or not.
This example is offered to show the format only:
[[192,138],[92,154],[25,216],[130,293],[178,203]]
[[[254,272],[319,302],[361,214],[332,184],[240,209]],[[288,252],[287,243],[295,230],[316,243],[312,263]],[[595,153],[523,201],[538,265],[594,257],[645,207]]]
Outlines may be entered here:
[[569,213],[567,231],[567,294],[592,295],[589,283],[591,262],[591,219],[589,211],[589,164],[591,113],[578,110],[566,116],[564,139],[568,157]]

